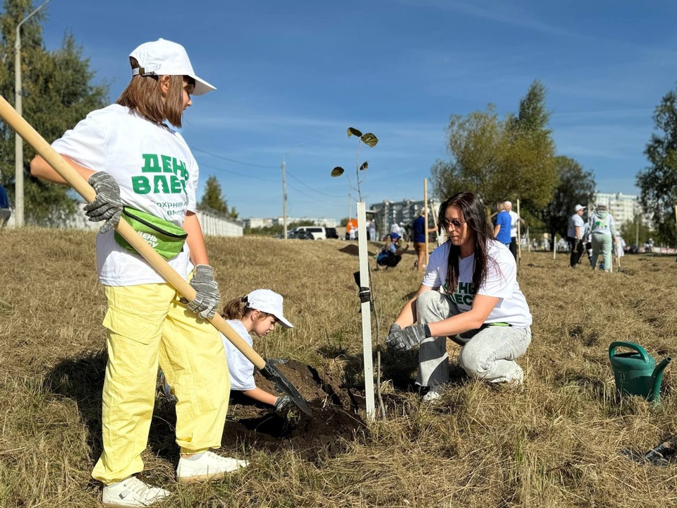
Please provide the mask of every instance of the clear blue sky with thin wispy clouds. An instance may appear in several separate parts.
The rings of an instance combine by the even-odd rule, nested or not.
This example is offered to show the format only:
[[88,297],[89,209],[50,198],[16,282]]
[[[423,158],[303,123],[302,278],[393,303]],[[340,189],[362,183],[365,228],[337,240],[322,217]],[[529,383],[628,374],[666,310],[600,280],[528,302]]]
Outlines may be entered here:
[[379,138],[360,149],[367,205],[421,200],[450,157],[449,117],[516,112],[535,79],[557,154],[593,171],[597,191],[638,193],[654,108],[677,79],[676,22],[668,1],[51,0],[43,26],[47,49],[73,34],[111,102],[135,47],[183,44],[218,89],[184,117],[200,193],[214,175],[240,217],[281,216],[284,159],[288,216],[338,219],[357,198],[330,176],[344,167],[355,185],[348,127]]

